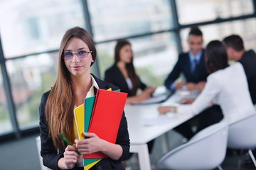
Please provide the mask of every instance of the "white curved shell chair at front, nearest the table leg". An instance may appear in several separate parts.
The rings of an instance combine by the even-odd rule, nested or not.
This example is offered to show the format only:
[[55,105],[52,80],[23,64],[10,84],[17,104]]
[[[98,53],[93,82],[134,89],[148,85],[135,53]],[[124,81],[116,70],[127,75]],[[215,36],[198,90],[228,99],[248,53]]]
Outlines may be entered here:
[[228,124],[216,123],[159,160],[160,169],[222,169],[228,141]]

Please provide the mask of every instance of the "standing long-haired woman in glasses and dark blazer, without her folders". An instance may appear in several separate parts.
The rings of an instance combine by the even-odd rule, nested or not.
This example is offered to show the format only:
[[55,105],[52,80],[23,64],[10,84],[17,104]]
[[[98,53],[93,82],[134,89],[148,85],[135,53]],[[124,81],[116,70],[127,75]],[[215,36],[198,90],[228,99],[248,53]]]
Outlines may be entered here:
[[[83,133],[85,140],[78,140],[80,134],[75,129],[74,108],[84,103],[85,98],[95,96],[95,89],[117,90],[117,86],[90,73],[95,60],[96,49],[91,35],[79,27],[67,30],[60,43],[57,80],[53,88],[43,94],[39,106],[41,156],[43,164],[50,169],[83,169],[82,155],[94,152],[102,152],[108,158],[101,159],[91,169],[124,169],[122,160],[129,156],[124,113],[115,144],[89,132]],[[73,145],[67,146],[59,133]]]

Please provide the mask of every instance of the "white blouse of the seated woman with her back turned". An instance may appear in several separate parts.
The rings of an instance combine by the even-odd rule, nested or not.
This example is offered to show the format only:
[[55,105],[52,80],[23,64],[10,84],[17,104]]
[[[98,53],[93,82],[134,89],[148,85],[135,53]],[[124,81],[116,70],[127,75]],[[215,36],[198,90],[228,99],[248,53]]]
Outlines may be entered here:
[[233,123],[255,113],[240,62],[210,74],[201,94],[191,105],[178,106],[178,113],[201,113],[210,103],[220,105],[224,119]]

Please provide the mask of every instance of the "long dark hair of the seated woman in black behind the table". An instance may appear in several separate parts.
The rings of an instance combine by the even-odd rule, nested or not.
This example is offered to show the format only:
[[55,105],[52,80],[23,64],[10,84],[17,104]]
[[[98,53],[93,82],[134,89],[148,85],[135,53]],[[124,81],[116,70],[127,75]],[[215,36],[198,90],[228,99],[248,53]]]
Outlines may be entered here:
[[[114,63],[117,63],[120,61],[120,50],[122,49],[122,47],[124,47],[124,45],[132,46],[128,40],[118,40],[117,45],[114,47]],[[131,62],[125,64],[125,68],[127,69],[128,77],[132,81],[131,96],[135,96],[137,94],[137,89],[139,89],[140,82],[139,82],[139,77],[137,76],[134,69],[133,56],[132,56]]]

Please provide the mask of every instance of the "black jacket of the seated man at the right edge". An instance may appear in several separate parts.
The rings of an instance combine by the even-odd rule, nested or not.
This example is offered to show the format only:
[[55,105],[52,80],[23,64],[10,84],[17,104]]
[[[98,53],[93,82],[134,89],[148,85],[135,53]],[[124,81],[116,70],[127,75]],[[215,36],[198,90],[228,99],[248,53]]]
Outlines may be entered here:
[[242,58],[238,61],[245,69],[247,77],[248,87],[252,103],[256,103],[256,54],[253,50],[249,50],[242,55]]

